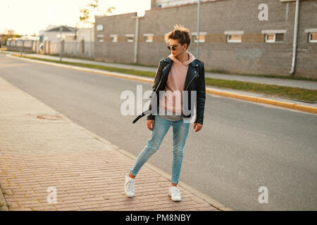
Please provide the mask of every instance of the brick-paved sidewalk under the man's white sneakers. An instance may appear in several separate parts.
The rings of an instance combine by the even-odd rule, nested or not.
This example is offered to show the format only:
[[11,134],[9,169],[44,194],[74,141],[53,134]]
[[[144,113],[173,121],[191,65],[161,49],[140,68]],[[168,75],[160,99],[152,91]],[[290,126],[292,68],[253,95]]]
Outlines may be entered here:
[[[174,203],[170,181],[149,165],[128,198],[123,182],[134,160],[124,150],[1,78],[0,108],[0,186],[8,210],[229,210],[182,186],[182,201]],[[47,202],[49,187],[56,203]]]

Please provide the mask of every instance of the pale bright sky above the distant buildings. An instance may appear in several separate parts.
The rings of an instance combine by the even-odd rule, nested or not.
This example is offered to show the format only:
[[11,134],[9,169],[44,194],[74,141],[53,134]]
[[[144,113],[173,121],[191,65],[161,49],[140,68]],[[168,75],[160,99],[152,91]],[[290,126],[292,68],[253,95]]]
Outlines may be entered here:
[[[99,0],[101,6],[116,7],[113,14],[137,12],[151,8],[151,0]],[[49,25],[74,27],[79,22],[80,8],[93,0],[1,0],[0,34],[14,30],[18,34],[39,34]]]

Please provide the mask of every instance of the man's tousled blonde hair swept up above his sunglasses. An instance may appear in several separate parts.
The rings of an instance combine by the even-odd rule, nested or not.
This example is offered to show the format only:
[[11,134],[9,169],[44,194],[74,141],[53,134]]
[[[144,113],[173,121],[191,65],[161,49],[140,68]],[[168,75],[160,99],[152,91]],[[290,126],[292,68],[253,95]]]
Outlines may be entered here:
[[187,44],[187,49],[190,44],[190,40],[192,39],[192,35],[189,30],[182,25],[174,25],[174,30],[166,34],[164,37],[166,44],[170,39],[178,40],[178,42],[183,45]]

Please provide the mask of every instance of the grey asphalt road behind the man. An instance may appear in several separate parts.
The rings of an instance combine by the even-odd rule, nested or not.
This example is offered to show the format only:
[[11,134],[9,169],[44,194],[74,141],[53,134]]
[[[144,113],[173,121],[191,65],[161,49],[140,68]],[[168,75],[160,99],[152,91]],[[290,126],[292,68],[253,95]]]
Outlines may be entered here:
[[[151,131],[123,116],[120,94],[151,84],[25,62],[0,54],[0,77],[70,120],[138,155]],[[145,101],[144,101],[145,103]],[[191,125],[180,180],[232,210],[317,210],[317,115],[206,96],[204,126]],[[168,174],[168,134],[148,162]],[[259,188],[268,203],[259,203]]]

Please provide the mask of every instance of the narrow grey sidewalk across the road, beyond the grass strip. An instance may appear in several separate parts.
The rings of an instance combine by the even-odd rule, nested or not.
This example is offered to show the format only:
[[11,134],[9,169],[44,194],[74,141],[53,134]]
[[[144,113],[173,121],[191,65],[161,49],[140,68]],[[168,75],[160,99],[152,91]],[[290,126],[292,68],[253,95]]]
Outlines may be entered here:
[[[18,53],[11,51],[4,51],[6,53]],[[48,56],[48,55],[40,55],[40,54],[27,54],[23,53],[25,56],[37,57],[37,58],[47,58],[51,60],[59,60],[58,56]],[[78,58],[66,58],[63,57],[63,61],[66,62],[75,62],[75,63],[88,63],[94,65],[105,65],[113,68],[125,68],[132,70],[141,70],[141,71],[151,71],[156,72],[156,68],[147,67],[147,66],[139,66],[139,65],[129,65],[129,64],[120,64],[120,63],[104,63],[98,62],[94,60],[82,60]],[[299,87],[302,89],[317,89],[317,82],[314,81],[306,81],[299,79],[282,79],[282,78],[271,78],[271,77],[256,77],[256,76],[245,76],[245,75],[225,75],[218,73],[206,72],[206,77],[216,78],[216,79],[228,79],[228,80],[237,80],[241,82],[253,82],[259,84],[275,84],[279,86],[292,86]]]

